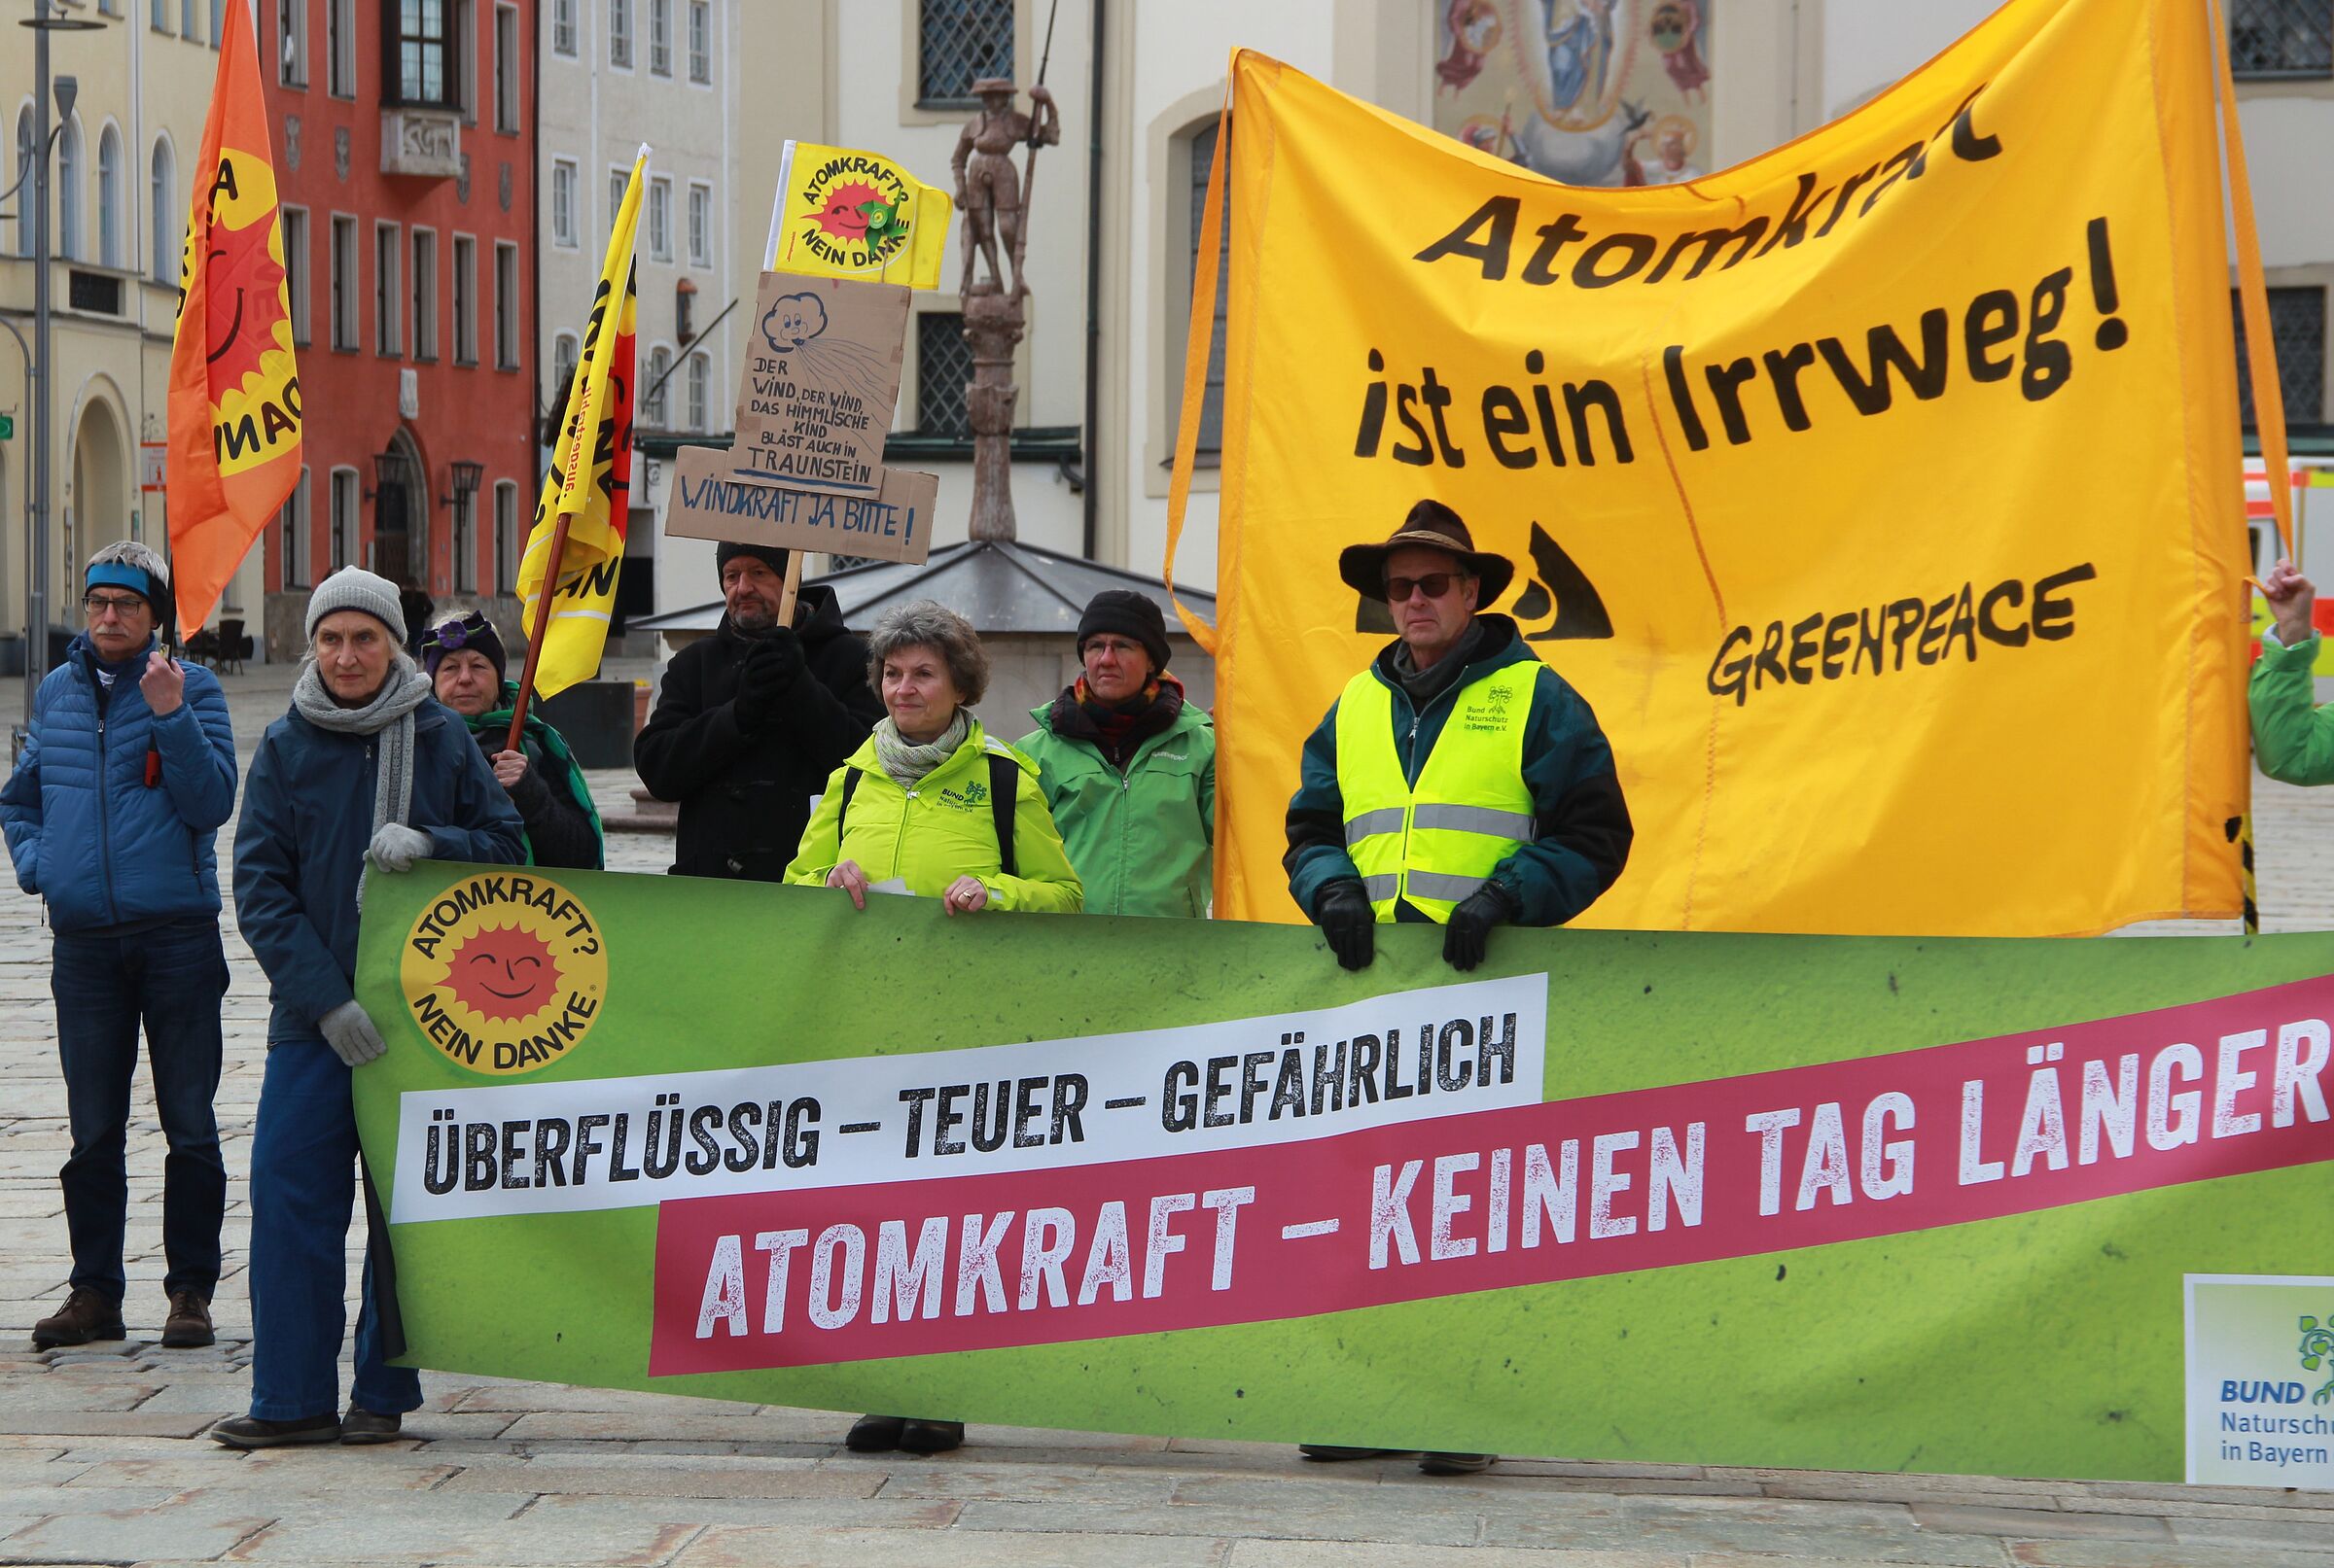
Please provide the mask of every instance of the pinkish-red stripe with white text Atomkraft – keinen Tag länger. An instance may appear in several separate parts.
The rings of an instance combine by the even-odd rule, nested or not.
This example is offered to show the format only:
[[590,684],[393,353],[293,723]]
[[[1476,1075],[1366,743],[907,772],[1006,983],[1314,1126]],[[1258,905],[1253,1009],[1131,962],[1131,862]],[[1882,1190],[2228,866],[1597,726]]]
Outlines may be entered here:
[[2318,978],[1312,1143],[670,1202],[649,1372],[1293,1318],[2327,1162],[2329,1015]]

